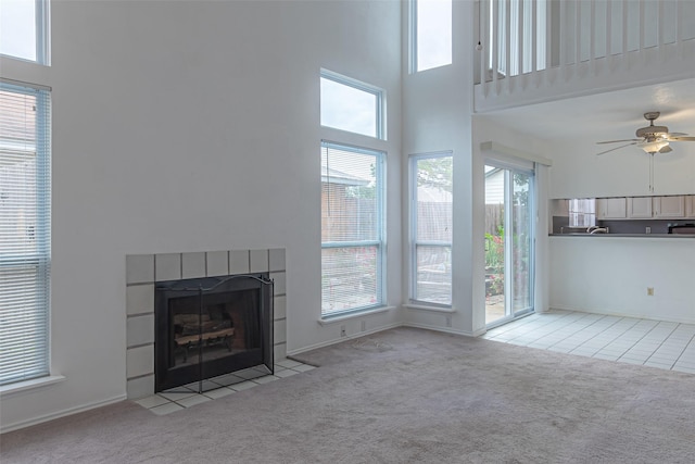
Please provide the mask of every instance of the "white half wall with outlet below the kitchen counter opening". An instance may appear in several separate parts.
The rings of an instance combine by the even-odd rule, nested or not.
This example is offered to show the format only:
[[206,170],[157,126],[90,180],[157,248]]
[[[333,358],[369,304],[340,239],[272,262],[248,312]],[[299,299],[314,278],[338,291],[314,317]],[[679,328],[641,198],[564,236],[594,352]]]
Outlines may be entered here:
[[[551,237],[551,306],[695,323],[690,238]],[[654,296],[647,296],[647,288]]]

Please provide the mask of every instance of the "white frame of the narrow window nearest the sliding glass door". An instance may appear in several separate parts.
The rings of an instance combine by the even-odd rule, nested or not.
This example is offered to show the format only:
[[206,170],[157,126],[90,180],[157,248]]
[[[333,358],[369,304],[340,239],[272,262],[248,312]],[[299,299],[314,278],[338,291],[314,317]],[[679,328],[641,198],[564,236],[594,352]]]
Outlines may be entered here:
[[[412,154],[409,156],[408,185],[409,185],[409,189],[410,189],[410,198],[409,198],[408,211],[409,211],[409,237],[410,237],[410,240],[409,240],[409,254],[410,254],[410,259],[409,259],[409,291],[408,291],[408,300],[409,300],[409,302],[412,304],[427,305],[427,306],[442,308],[442,309],[451,309],[451,308],[453,308],[453,284],[454,284],[453,271],[452,271],[451,281],[450,281],[451,293],[450,293],[450,302],[448,302],[448,304],[420,299],[420,298],[418,298],[418,291],[417,291],[417,289],[418,289],[418,262],[417,262],[417,250],[418,250],[418,247],[448,248],[450,256],[451,256],[451,260],[453,261],[453,210],[454,210],[453,195],[452,195],[452,240],[448,241],[448,242],[441,241],[441,240],[419,240],[418,239],[418,233],[417,233],[417,230],[418,230],[418,195],[417,195],[418,185],[417,185],[417,183],[418,183],[418,172],[419,172],[418,162],[422,161],[422,160],[431,160],[431,159],[440,159],[440,158],[451,158],[451,160],[452,160],[452,172],[453,172],[454,153],[451,150],[448,150],[448,151],[430,152],[430,153],[418,153],[418,154]],[[452,174],[452,186],[453,186],[453,183],[454,183],[454,177],[453,177],[453,174]],[[453,268],[453,266],[452,266],[452,268]]]

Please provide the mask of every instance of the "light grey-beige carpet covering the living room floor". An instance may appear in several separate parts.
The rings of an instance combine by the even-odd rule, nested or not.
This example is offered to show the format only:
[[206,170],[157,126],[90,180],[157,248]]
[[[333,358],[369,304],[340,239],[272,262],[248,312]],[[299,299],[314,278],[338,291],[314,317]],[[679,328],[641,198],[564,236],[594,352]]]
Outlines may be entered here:
[[692,463],[695,376],[412,328],[167,416],[5,434],[3,463]]

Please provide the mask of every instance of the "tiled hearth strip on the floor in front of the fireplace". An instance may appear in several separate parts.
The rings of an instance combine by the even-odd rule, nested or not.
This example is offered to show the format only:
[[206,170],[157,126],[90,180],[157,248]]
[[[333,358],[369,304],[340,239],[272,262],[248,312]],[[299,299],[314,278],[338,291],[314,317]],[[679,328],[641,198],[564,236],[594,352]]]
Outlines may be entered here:
[[204,380],[202,393],[198,393],[198,383],[194,383],[172,388],[135,402],[156,415],[165,415],[314,368],[316,367],[298,361],[282,360],[275,364],[274,375],[268,375],[266,369],[252,367]]

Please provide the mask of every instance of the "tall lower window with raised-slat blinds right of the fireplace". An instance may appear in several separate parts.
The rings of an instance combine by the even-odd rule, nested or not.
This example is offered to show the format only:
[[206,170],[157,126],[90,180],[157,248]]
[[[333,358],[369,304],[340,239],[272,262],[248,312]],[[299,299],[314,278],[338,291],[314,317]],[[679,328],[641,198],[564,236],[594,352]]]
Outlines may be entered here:
[[384,153],[321,142],[321,315],[383,303]]

